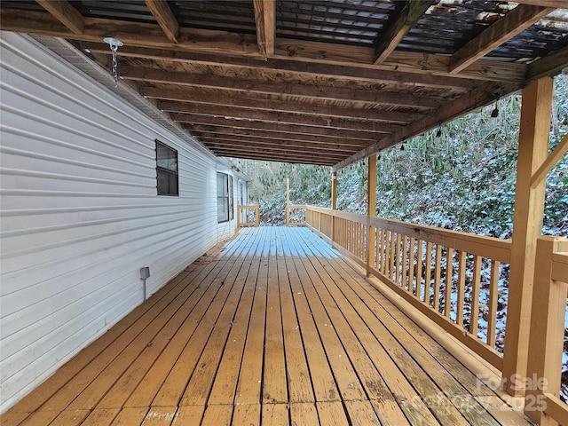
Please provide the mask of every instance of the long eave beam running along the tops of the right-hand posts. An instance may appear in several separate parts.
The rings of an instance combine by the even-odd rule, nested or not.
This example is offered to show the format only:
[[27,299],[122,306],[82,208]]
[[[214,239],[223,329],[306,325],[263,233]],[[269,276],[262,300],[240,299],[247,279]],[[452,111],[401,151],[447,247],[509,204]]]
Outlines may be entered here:
[[485,106],[496,99],[497,96],[507,96],[510,93],[517,91],[515,84],[498,84],[498,83],[485,83],[469,92],[468,96],[462,96],[455,99],[453,102],[442,106],[434,114],[424,116],[421,120],[412,122],[411,124],[401,128],[400,130],[388,135],[381,136],[375,144],[359,151],[359,153],[352,155],[350,158],[335,164],[334,170],[342,169],[343,167],[351,164],[351,162],[359,162],[371,154],[376,154],[383,149],[389,148],[403,142],[409,138],[420,135],[427,130],[438,127],[439,123],[449,122],[455,118],[469,113],[479,106]]

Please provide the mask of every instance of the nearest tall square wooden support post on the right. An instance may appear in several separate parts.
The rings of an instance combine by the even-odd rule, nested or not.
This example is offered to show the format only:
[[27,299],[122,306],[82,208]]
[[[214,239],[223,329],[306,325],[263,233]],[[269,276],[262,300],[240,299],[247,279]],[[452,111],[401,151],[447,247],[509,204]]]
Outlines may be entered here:
[[511,395],[525,393],[536,241],[542,233],[545,189],[544,179],[538,185],[531,182],[548,155],[552,87],[552,78],[543,77],[523,90],[502,372],[504,388]]

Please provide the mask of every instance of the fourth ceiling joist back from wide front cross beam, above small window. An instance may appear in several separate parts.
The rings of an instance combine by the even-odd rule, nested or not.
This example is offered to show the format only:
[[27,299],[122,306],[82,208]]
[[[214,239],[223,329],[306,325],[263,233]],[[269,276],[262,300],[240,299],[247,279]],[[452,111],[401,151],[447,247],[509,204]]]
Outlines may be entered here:
[[213,115],[230,119],[256,120],[264,122],[285,122],[288,124],[303,124],[307,126],[326,127],[328,129],[376,131],[381,128],[380,122],[347,120],[343,118],[327,118],[317,115],[299,115],[272,111],[255,111],[248,108],[233,106],[209,106],[207,104],[192,104],[178,102],[162,102],[160,107],[169,113]]

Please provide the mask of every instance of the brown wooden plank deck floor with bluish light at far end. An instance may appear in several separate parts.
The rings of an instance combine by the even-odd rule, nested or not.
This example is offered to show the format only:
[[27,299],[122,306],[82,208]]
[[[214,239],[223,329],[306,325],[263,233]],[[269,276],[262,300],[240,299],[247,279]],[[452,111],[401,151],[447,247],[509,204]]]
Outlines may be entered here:
[[527,424],[306,228],[189,265],[3,425]]

